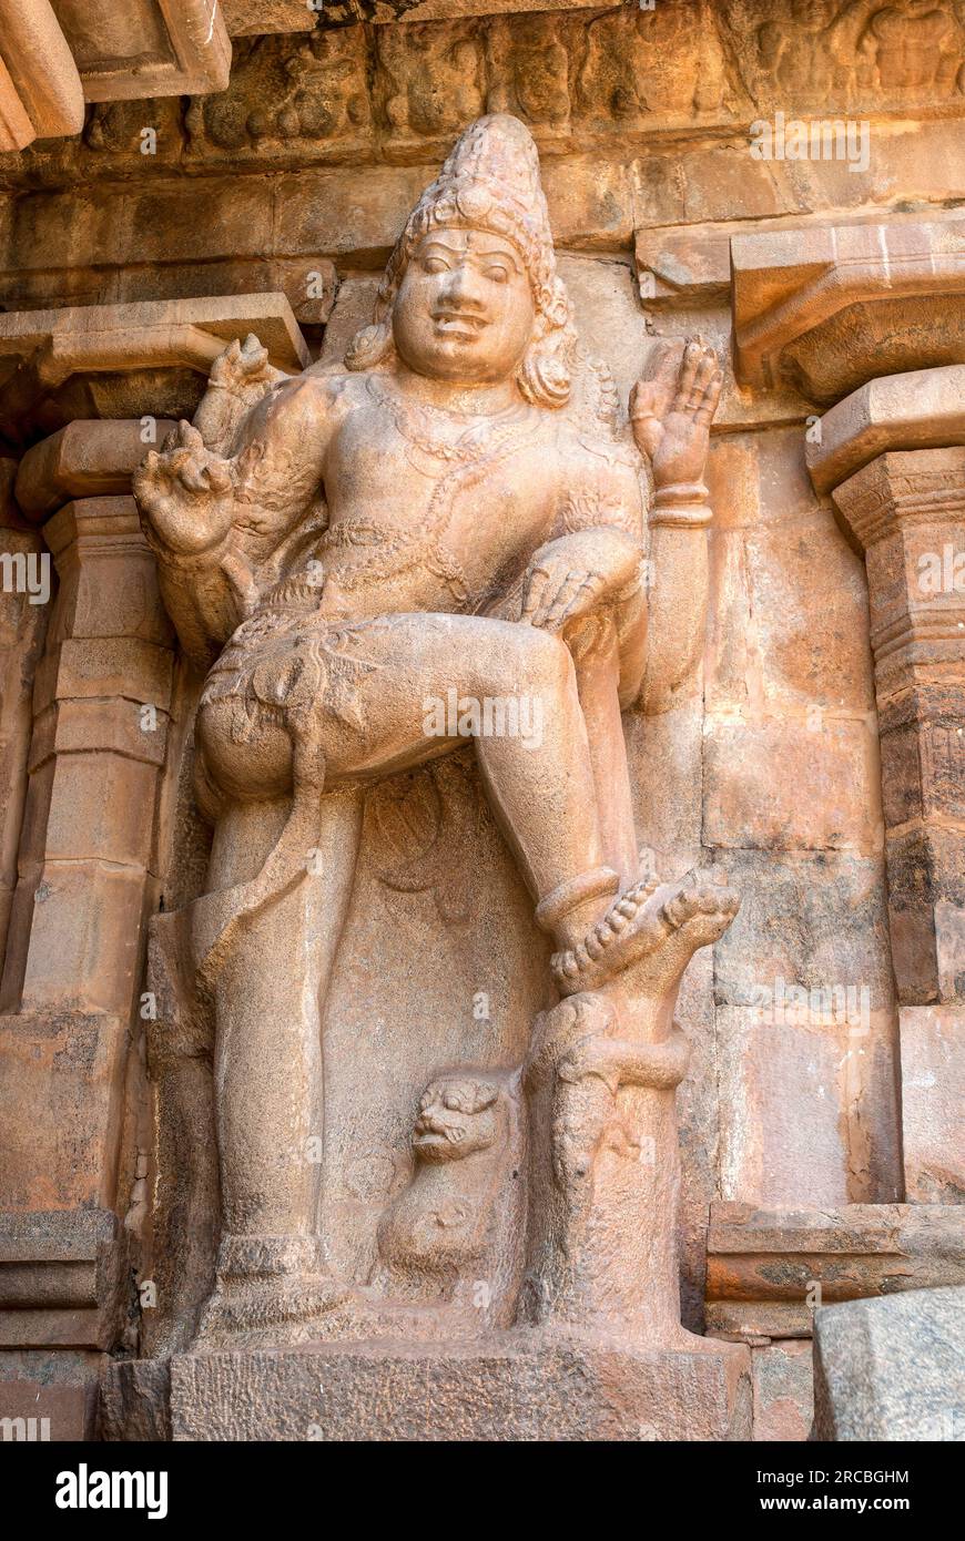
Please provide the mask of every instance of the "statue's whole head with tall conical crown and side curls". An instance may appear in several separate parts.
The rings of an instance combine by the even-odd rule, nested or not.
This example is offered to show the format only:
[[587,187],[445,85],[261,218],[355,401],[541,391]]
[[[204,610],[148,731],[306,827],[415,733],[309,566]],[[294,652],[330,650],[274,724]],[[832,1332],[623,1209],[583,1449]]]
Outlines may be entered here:
[[345,364],[367,370],[395,353],[436,379],[515,376],[527,401],[561,407],[575,341],[533,137],[507,112],[481,117],[409,216]]

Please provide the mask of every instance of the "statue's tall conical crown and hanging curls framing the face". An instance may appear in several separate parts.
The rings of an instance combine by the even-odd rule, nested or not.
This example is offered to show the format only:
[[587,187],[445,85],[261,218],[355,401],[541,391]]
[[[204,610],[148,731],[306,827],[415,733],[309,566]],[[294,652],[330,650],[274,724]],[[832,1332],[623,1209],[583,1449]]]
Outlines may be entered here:
[[519,250],[536,305],[538,350],[527,361],[519,385],[530,399],[560,405],[569,394],[567,356],[575,341],[570,304],[556,274],[536,145],[526,125],[509,112],[476,119],[450,149],[395,243],[379,284],[375,324],[355,337],[345,362],[350,368],[367,368],[388,345],[387,317],[412,254],[430,230],[444,225],[489,230]]

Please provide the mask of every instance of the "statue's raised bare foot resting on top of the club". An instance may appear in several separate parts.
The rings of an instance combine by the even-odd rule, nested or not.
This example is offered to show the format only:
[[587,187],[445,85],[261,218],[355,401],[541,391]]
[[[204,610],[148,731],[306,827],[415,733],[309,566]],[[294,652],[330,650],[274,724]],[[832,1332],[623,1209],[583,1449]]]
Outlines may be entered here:
[[658,995],[677,983],[694,952],[725,934],[740,897],[711,872],[688,872],[651,892],[637,883],[575,948],[556,952],[553,977],[563,995],[600,989],[632,971],[632,986]]

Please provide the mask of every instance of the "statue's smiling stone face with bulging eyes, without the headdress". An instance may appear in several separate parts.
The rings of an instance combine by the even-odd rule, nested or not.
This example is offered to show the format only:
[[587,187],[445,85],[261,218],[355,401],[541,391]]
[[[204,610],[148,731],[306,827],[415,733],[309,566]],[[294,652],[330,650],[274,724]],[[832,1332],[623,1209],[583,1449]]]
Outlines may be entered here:
[[415,374],[482,385],[513,374],[535,317],[529,276],[510,240],[442,228],[422,237],[405,270],[392,333]]

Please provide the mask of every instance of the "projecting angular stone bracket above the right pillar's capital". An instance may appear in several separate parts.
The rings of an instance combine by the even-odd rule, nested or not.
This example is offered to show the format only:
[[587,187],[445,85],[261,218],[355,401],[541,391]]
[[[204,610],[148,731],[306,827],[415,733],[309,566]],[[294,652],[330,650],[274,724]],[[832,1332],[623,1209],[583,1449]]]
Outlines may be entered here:
[[734,236],[735,373],[832,402],[965,358],[965,220]]

